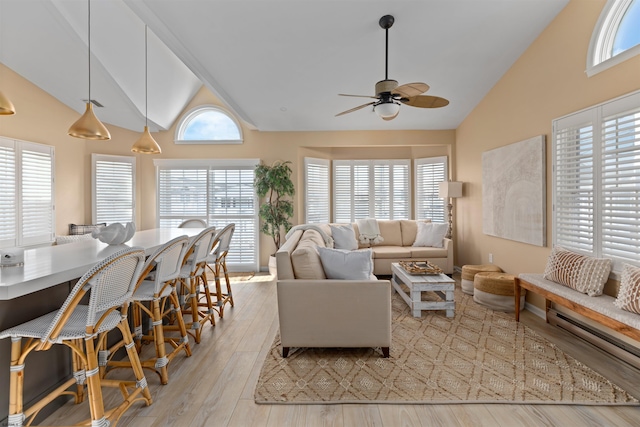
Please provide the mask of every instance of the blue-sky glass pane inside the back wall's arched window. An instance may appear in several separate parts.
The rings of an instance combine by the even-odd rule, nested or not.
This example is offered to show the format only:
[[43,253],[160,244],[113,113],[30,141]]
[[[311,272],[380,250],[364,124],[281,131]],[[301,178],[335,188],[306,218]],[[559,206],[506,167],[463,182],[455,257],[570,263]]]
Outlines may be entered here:
[[234,141],[240,139],[240,131],[238,125],[223,112],[205,110],[196,114],[186,124],[182,139],[188,141]]

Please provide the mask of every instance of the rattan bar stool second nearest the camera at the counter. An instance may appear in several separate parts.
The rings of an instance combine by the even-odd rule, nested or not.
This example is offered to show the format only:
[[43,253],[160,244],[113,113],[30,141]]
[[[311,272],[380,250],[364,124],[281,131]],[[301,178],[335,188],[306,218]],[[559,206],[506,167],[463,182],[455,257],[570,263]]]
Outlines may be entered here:
[[[154,370],[160,376],[162,384],[169,382],[167,365],[179,352],[184,351],[187,357],[191,356],[187,329],[176,292],[176,278],[180,273],[188,246],[189,238],[187,236],[176,237],[162,245],[147,258],[142,270],[143,280],[139,282],[132,298],[136,348],[140,352],[141,343],[146,340],[153,341],[156,349],[155,357],[141,360],[142,367]],[[146,313],[151,322],[150,335],[147,336],[142,333],[142,313]],[[169,316],[175,317],[180,332],[179,337],[168,336],[164,333],[163,319]],[[169,353],[167,353],[166,344],[172,347]],[[123,342],[119,342],[109,350],[100,352],[102,376],[106,374],[108,368],[131,366],[129,361],[112,360],[115,352],[123,345]]]

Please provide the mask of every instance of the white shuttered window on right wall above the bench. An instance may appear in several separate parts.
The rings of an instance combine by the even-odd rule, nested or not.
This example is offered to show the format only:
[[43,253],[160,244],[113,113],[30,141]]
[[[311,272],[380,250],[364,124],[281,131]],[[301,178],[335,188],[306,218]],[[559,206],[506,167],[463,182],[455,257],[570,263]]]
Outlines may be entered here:
[[[633,141],[635,145],[638,145],[638,148],[633,150],[633,153],[640,159],[640,91],[559,117],[552,122],[553,245],[560,245],[588,256],[610,258],[612,260],[612,277],[614,278],[619,278],[623,264],[640,266],[640,250],[636,250],[635,254],[634,251],[624,251],[627,258],[616,257],[612,254],[612,252],[616,251],[616,249],[612,249],[612,246],[616,244],[615,240],[620,240],[620,246],[637,246],[633,243],[624,243],[625,239],[620,236],[613,236],[618,229],[625,227],[626,222],[640,221],[638,209],[630,210],[625,206],[624,198],[620,199],[615,196],[615,190],[622,188],[622,186],[613,184],[616,184],[619,180],[618,177],[622,176],[619,175],[618,165],[622,169],[628,169],[629,166],[633,168],[636,163],[640,164],[640,160],[637,162],[634,160],[630,164],[628,158],[624,157],[627,155],[624,152],[622,152],[620,158],[617,157],[618,154],[616,152],[619,150],[616,149],[613,150],[615,161],[612,163],[610,147],[613,144],[611,144],[611,141],[616,141],[616,144],[620,146],[628,145],[630,141],[624,139],[627,137],[624,132],[620,132],[617,138],[611,138],[611,132],[606,128],[607,123],[610,126],[611,122],[630,115],[638,116],[632,128],[635,129],[636,135],[639,135]],[[570,146],[567,148],[566,144],[563,145],[566,140],[571,142],[569,139],[571,135],[565,137],[565,139],[561,139],[562,136],[571,132],[577,134],[580,131],[585,136],[578,135],[573,137],[577,149],[571,150]],[[591,140],[591,147],[588,145],[589,140]],[[608,149],[609,151],[606,151]],[[565,166],[565,163],[561,163],[558,160],[559,150],[564,150],[561,153],[567,153],[561,160],[570,160],[571,157],[574,157],[578,158],[574,163],[585,165],[577,171],[582,173],[580,179],[577,179],[577,172],[571,172],[571,174],[564,172],[565,170],[575,170],[575,168],[569,169],[571,167],[570,162]],[[621,163],[618,163],[618,160]],[[592,166],[589,168],[590,162]],[[612,168],[616,171],[613,175],[610,173]],[[560,173],[563,175],[560,176]],[[569,178],[573,177],[573,179],[570,180],[566,178],[567,176]],[[636,180],[640,182],[640,178]],[[573,187],[571,187],[565,185],[566,182],[581,183],[581,185],[577,187],[577,184],[573,184]],[[563,198],[566,193],[565,187],[569,187],[569,189],[577,188],[574,192],[579,191],[582,196],[578,197],[570,194],[570,197],[565,196]],[[570,199],[573,199],[573,201]],[[626,201],[634,199],[638,199],[638,197],[627,196]],[[566,200],[569,201],[569,204],[573,203],[575,205],[573,211],[565,208]],[[611,201],[608,202],[608,200]],[[635,212],[635,216],[630,215],[629,211]],[[612,212],[625,218],[611,221]],[[568,224],[570,221],[573,221],[570,226],[563,227],[564,223]],[[612,233],[612,236],[609,236],[609,233]],[[635,256],[635,258],[628,259],[629,256]]]

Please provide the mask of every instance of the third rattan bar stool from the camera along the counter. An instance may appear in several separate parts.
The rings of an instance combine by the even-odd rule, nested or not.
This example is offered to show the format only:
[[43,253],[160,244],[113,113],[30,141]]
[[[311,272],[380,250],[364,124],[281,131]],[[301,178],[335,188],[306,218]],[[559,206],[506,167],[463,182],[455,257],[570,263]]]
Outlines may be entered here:
[[[211,325],[216,324],[206,272],[207,257],[211,252],[215,230],[215,227],[205,228],[192,240],[177,279],[182,314],[191,316],[191,321],[186,322],[187,332],[194,337],[196,344],[200,343],[202,326],[207,321],[211,322]],[[165,326],[165,330],[177,328],[176,325]]]

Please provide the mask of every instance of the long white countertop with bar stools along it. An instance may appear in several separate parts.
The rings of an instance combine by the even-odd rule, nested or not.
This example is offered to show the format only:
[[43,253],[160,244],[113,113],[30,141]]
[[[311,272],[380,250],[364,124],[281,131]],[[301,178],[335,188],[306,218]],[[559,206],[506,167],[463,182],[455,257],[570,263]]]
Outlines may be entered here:
[[0,300],[11,300],[80,278],[97,262],[127,247],[142,247],[151,255],[169,240],[195,236],[200,228],[154,228],[137,231],[123,245],[109,246],[97,239],[24,251],[24,265],[0,268]]

